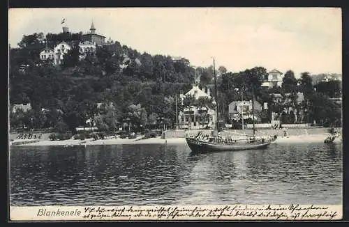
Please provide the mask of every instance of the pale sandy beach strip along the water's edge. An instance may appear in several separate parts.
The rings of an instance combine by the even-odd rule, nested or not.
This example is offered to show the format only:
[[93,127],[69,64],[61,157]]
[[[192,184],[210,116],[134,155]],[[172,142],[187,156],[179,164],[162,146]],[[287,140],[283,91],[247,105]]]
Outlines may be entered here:
[[[315,143],[324,142],[327,134],[312,134],[298,136],[283,136],[278,137],[272,143]],[[172,137],[168,139],[150,138],[150,139],[85,139],[74,140],[68,139],[65,141],[30,141],[28,143],[16,144],[19,140],[10,142],[10,146],[95,146],[95,145],[128,145],[128,144],[186,144],[186,139],[182,137]],[[28,141],[28,140],[27,140]],[[341,137],[336,138],[334,143],[341,143]],[[14,144],[12,144],[14,143]]]

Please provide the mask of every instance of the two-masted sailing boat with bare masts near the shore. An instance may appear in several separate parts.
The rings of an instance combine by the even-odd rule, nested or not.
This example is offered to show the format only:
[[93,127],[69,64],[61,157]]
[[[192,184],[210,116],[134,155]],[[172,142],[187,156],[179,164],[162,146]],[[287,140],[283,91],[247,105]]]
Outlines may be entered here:
[[252,94],[252,116],[253,116],[253,135],[242,138],[234,138],[232,136],[221,136],[219,130],[218,120],[218,100],[217,100],[217,82],[216,82],[216,70],[214,65],[214,90],[216,100],[216,128],[210,135],[204,134],[200,131],[196,136],[186,136],[186,143],[191,148],[192,153],[205,153],[205,152],[217,152],[217,151],[235,151],[235,150],[251,150],[265,148],[269,146],[274,138],[271,136],[262,137],[255,136],[255,124],[254,124],[254,95]]

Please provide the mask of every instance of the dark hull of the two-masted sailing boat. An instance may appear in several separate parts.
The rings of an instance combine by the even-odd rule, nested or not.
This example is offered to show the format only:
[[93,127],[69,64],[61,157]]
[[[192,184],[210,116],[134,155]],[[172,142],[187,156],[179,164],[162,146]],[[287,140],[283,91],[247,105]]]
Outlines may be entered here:
[[237,151],[252,150],[267,147],[271,141],[265,143],[235,143],[235,144],[217,144],[200,141],[194,138],[186,138],[186,143],[193,153],[218,152],[218,151]]

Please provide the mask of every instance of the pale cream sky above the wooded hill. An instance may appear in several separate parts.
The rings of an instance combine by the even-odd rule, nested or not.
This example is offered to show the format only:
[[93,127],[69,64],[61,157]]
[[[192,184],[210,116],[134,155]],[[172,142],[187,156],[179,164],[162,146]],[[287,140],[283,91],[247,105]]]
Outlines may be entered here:
[[[61,24],[62,19],[65,23]],[[262,66],[281,72],[342,72],[340,8],[12,8],[8,40],[23,35],[99,33],[151,55],[239,72]]]

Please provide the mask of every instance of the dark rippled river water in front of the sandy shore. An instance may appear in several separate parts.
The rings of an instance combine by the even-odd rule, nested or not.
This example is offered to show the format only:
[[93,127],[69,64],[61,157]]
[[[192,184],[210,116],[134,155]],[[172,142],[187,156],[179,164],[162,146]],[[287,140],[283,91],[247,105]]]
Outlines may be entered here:
[[341,204],[341,143],[13,147],[10,205]]

